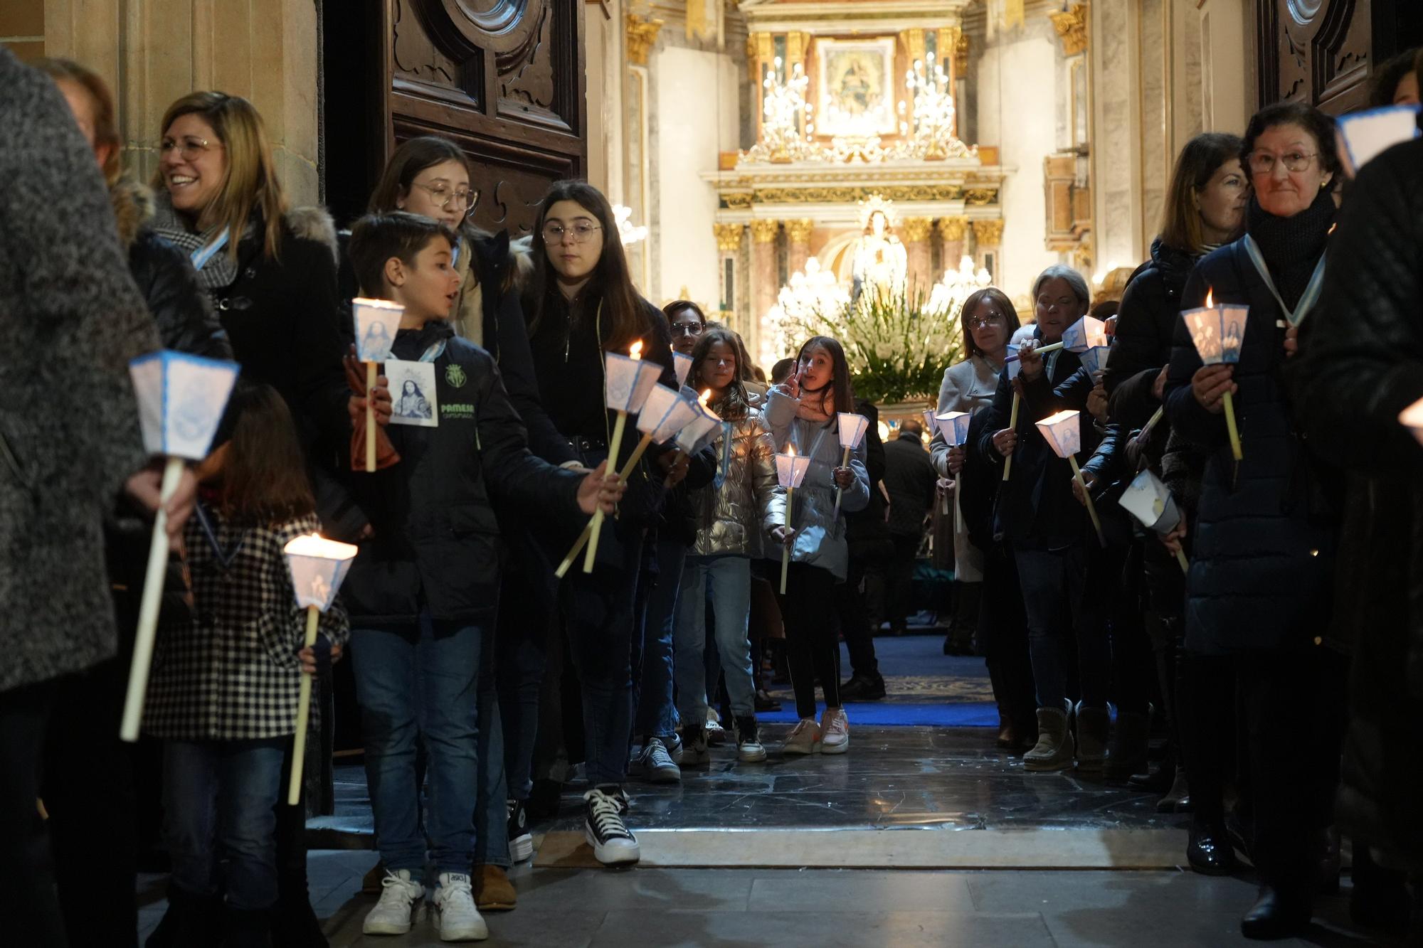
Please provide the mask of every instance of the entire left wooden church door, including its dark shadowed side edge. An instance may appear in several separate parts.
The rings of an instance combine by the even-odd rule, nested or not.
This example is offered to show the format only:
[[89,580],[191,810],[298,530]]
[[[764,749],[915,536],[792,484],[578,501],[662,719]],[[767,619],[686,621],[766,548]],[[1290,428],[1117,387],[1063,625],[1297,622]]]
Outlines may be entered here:
[[[437,134],[470,155],[474,222],[527,233],[548,185],[585,174],[583,4],[379,0],[359,10],[327,3],[323,19],[337,216],[364,208],[396,145]],[[359,154],[343,172],[333,148],[347,142]]]

